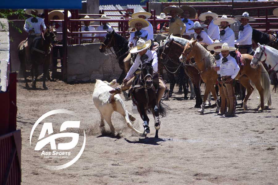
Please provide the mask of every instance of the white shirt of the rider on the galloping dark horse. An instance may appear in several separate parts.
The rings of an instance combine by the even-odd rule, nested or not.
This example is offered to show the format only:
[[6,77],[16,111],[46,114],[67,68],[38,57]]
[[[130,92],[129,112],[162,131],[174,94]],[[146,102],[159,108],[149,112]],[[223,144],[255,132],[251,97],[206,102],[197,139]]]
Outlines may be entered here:
[[[154,73],[157,72],[158,71],[158,58],[157,58],[156,52],[147,50],[145,55],[147,55],[149,57],[148,61],[154,59],[153,63],[152,63],[153,71],[154,71]],[[125,79],[129,80],[133,76],[133,73],[136,71],[136,69],[139,67],[139,65],[140,64],[142,65],[142,61],[141,61],[140,57],[141,57],[141,55],[138,53],[136,56],[136,59],[134,61],[134,64],[129,69]]]

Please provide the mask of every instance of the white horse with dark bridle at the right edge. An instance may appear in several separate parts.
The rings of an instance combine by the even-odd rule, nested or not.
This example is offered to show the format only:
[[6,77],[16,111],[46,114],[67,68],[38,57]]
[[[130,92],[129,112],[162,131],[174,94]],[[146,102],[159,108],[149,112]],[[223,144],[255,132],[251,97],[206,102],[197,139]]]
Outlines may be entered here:
[[270,65],[271,69],[269,71],[274,72],[274,76],[276,76],[274,79],[274,89],[276,92],[278,88],[278,50],[270,46],[261,45],[260,43],[258,43],[258,46],[251,61],[251,67],[256,69],[263,63],[267,64],[267,66]]

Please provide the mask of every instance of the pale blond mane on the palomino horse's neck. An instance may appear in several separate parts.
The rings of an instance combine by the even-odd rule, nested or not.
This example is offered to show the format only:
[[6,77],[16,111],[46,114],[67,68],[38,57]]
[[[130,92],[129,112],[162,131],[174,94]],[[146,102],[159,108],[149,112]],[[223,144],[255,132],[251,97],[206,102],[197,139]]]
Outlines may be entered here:
[[197,53],[201,55],[202,60],[204,60],[205,62],[205,68],[206,69],[213,68],[214,61],[215,61],[213,55],[198,42],[195,43],[195,47],[197,47]]

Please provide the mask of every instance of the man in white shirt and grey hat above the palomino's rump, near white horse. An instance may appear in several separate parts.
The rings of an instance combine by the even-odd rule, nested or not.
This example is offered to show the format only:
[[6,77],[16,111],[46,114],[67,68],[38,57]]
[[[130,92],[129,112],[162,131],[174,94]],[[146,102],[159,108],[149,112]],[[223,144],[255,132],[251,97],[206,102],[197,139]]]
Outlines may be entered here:
[[252,27],[248,24],[249,21],[255,21],[253,17],[249,17],[248,12],[244,12],[242,15],[234,16],[236,19],[240,20],[241,26],[239,27],[238,39],[234,43],[239,44],[238,51],[242,54],[254,54],[252,49]]

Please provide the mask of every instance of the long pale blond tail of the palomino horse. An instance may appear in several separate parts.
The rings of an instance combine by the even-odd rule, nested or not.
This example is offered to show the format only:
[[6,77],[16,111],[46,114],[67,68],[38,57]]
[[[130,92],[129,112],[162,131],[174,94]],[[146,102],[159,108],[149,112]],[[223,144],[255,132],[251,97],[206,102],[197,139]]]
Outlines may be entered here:
[[263,67],[263,64],[260,64],[261,66],[261,84],[263,87],[263,99],[266,102],[267,105],[271,105],[271,95],[270,95],[270,78],[267,73],[267,70]]

